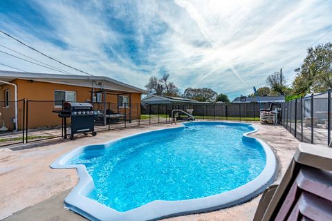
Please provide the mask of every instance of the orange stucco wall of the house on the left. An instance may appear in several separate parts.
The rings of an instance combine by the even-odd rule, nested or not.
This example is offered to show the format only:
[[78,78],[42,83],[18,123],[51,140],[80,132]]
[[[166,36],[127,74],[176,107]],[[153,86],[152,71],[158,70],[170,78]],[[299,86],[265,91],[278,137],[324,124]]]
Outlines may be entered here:
[[[24,79],[16,79],[12,81],[13,84],[17,84],[18,88],[18,100],[28,99],[28,128],[39,128],[43,126],[57,126],[61,125],[61,118],[57,117],[56,113],[52,113],[55,108],[54,102],[54,91],[55,90],[67,90],[76,92],[77,102],[86,102],[86,100],[91,100],[91,90],[92,88],[82,87],[82,86],[69,86],[64,84],[53,84],[46,82],[29,82]],[[14,86],[4,85],[1,86],[0,90],[0,100],[3,100],[3,91],[9,88],[10,90],[10,100],[15,100]],[[48,102],[46,102],[48,101]],[[118,104],[116,95],[107,95],[106,102],[111,102],[111,109],[117,111],[116,107]],[[131,95],[132,104],[140,104],[140,94],[135,93]],[[95,109],[103,110],[102,104],[95,104]],[[108,105],[107,105],[108,108]],[[58,109],[59,110],[59,109]],[[15,117],[15,104],[10,104],[9,108],[3,108],[1,104],[1,111],[5,118],[5,124],[8,128],[12,129],[13,124],[11,122],[12,117]],[[129,109],[127,108],[127,113]],[[137,118],[137,105],[131,108],[132,119]],[[120,110],[123,113],[123,110]],[[19,128],[22,127],[23,118],[23,102],[19,102]],[[1,117],[0,117],[1,122]],[[1,125],[2,126],[2,125]]]

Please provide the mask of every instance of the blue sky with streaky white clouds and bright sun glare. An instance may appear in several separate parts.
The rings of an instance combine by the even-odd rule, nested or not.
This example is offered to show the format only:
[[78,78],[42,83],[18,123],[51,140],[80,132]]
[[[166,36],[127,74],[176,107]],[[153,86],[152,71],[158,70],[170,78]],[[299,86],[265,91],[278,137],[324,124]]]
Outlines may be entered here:
[[[332,1],[1,0],[0,30],[93,75],[144,88],[169,73],[233,99],[280,68],[291,84],[306,48],[332,41]],[[1,33],[0,50],[82,75]],[[3,52],[0,70],[59,73]]]

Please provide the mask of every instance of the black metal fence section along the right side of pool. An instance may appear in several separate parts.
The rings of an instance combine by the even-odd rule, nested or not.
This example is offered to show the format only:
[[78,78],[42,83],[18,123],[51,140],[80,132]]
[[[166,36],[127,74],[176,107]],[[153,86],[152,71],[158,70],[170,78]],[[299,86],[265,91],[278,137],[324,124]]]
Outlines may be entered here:
[[282,125],[300,142],[331,142],[331,90],[282,104]]

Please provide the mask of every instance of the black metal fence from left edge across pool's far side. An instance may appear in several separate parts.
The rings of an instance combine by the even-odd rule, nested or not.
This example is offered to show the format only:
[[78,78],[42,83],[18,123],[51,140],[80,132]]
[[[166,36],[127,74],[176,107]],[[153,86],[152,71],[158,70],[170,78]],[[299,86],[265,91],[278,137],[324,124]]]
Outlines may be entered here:
[[[68,133],[71,127],[70,119],[67,119],[65,129],[64,119],[53,113],[55,110],[62,110],[62,103],[63,101],[28,99],[17,102],[0,101],[0,147],[64,137],[64,130]],[[257,121],[260,108],[257,103],[124,104],[124,106],[111,102],[93,103],[93,109],[100,113],[95,115],[96,132],[167,123],[171,121],[174,109],[192,111],[196,119]],[[185,119],[186,116],[179,117]]]

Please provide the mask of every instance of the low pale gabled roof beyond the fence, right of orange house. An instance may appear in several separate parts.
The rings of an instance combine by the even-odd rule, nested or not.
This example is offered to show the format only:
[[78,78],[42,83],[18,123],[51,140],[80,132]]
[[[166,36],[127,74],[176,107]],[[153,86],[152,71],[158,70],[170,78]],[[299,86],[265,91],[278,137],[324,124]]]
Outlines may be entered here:
[[200,103],[194,99],[187,99],[182,97],[171,97],[161,95],[149,95],[142,99],[142,104],[191,104]]

